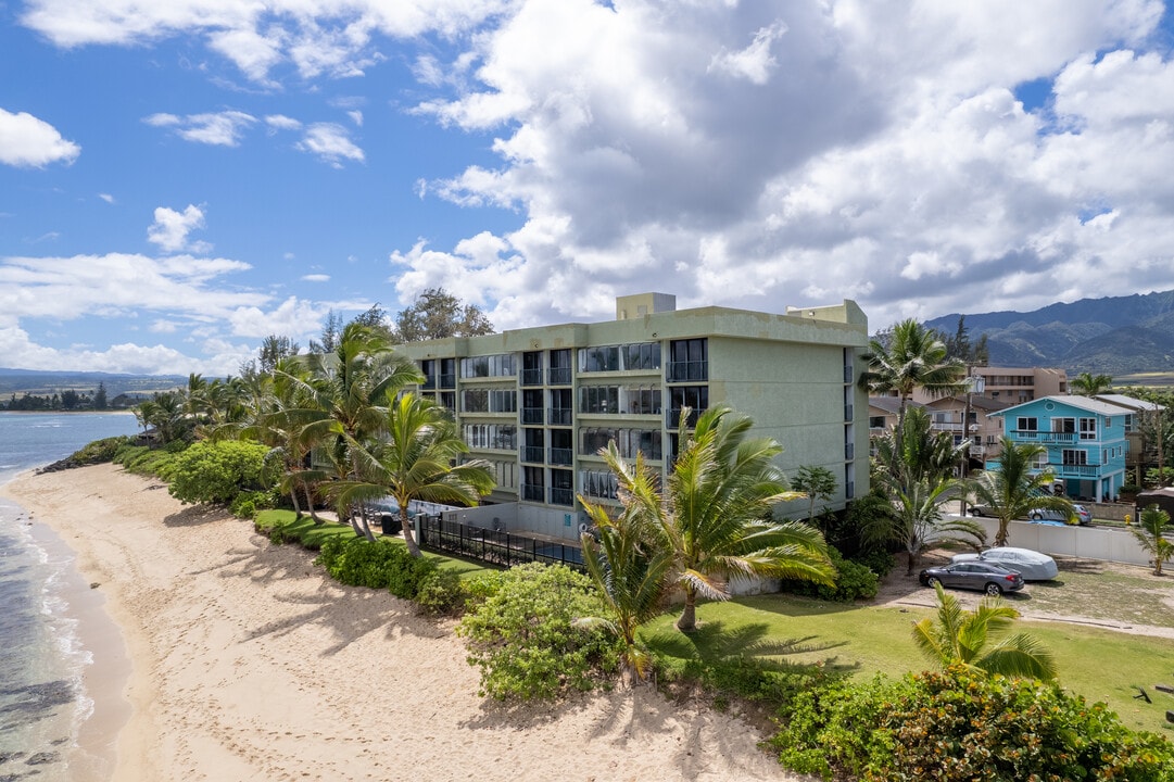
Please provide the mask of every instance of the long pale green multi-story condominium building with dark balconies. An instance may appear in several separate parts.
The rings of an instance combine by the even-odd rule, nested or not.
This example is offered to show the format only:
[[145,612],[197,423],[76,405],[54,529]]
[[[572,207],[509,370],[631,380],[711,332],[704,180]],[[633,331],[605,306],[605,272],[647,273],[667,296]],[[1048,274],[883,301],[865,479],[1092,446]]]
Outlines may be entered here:
[[[471,449],[497,473],[492,507],[461,518],[576,539],[578,496],[615,504],[616,483],[598,456],[620,452],[667,472],[679,424],[724,403],[750,416],[755,433],[783,445],[780,466],[836,476],[830,510],[868,492],[866,392],[857,379],[868,319],[855,302],[771,315],[675,297],[616,299],[616,319],[400,345],[448,407]],[[805,503],[778,508],[801,515]]]

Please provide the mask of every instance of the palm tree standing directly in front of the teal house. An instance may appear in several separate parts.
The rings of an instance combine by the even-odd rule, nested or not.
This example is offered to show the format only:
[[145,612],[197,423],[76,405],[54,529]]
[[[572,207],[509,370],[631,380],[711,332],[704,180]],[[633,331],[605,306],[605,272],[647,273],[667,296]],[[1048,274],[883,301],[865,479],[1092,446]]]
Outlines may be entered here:
[[976,505],[986,505],[999,520],[996,546],[1007,545],[1007,527],[1012,519],[1025,518],[1034,508],[1060,511],[1072,515],[1072,501],[1050,491],[1052,472],[1035,471],[1037,457],[1047,452],[1038,443],[1016,443],[1004,437],[998,466],[976,473],[971,484]]

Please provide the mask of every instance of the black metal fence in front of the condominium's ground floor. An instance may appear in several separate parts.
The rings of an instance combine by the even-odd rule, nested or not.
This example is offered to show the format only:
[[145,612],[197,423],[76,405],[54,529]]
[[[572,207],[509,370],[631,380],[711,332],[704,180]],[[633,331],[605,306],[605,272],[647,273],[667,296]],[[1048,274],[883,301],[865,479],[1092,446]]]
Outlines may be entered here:
[[431,515],[420,518],[417,524],[420,530],[420,546],[434,551],[479,559],[502,567],[524,562],[561,562],[578,571],[585,569],[582,548],[573,544],[486,530]]

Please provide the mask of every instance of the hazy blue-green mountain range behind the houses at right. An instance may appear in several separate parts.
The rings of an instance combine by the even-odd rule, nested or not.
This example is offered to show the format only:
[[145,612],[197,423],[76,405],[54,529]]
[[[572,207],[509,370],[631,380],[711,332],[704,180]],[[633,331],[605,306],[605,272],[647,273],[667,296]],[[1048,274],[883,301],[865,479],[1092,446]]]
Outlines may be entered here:
[[1082,298],[1032,312],[954,312],[925,325],[952,336],[959,317],[972,344],[986,336],[992,366],[1055,366],[1070,376],[1174,373],[1174,290]]

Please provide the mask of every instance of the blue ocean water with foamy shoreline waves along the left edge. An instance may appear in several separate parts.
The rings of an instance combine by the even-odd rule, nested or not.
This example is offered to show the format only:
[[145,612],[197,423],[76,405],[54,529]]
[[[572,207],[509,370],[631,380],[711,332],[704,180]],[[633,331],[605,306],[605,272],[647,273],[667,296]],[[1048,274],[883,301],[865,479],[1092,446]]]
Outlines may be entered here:
[[[0,484],[136,431],[129,414],[0,412]],[[0,780],[65,780],[63,761],[93,710],[73,565],[52,532],[0,499]]]

